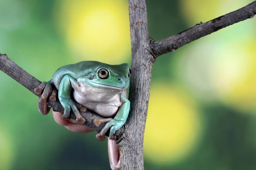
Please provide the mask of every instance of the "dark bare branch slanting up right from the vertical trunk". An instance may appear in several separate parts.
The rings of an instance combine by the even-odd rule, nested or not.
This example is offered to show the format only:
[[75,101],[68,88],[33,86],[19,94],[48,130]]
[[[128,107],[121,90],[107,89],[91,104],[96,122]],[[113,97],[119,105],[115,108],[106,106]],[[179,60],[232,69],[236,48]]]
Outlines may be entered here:
[[150,47],[155,57],[159,55],[173,52],[185,44],[204,37],[205,35],[211,34],[218,31],[226,26],[235,24],[237,22],[253,18],[256,14],[256,1],[248,4],[247,6],[240,8],[236,11],[222,15],[218,18],[210,20],[208,22],[200,22],[190,29],[182,31],[171,37],[164,38],[158,41],[151,41]]

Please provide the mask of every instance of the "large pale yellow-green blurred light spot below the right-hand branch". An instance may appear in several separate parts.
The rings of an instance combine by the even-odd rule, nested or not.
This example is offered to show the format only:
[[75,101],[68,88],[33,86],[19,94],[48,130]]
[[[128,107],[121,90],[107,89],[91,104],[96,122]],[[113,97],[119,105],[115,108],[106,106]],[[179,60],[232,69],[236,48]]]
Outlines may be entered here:
[[255,113],[255,36],[237,41],[225,38],[220,41],[218,36],[191,44],[180,56],[180,76],[204,102],[219,101],[243,113]]

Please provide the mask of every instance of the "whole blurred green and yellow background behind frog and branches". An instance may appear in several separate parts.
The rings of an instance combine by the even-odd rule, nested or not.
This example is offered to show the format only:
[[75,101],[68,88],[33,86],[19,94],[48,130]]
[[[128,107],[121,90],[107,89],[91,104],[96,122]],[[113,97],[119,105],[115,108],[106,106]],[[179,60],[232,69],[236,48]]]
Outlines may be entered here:
[[[147,0],[159,40],[252,0]],[[127,0],[0,0],[0,52],[41,81],[82,60],[131,61]],[[144,138],[146,170],[256,169],[256,19],[157,59]],[[106,170],[107,143],[41,115],[0,72],[0,170]]]

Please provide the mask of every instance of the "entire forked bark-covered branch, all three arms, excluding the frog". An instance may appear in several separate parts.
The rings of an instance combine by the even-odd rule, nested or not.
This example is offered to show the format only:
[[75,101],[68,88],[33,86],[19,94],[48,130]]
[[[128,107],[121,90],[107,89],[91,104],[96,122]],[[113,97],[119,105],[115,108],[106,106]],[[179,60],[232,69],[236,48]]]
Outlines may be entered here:
[[[146,0],[129,0],[130,35],[132,44],[132,75],[130,80],[129,100],[131,102],[130,115],[126,124],[117,131],[117,144],[120,149],[122,170],[144,170],[143,138],[146,124],[148,99],[150,93],[151,71],[157,56],[197,40],[205,35],[218,31],[226,26],[252,18],[256,14],[256,1],[238,9],[237,11],[218,17],[209,22],[200,23],[162,40],[154,41],[148,33]],[[10,77],[25,86],[32,93],[41,82],[8,59],[7,55],[0,55],[0,69]],[[63,113],[59,102],[47,101],[53,110]],[[71,114],[74,118],[74,114]],[[85,118],[85,125],[99,132],[92,120],[99,117],[95,113],[86,111],[81,114]]]

